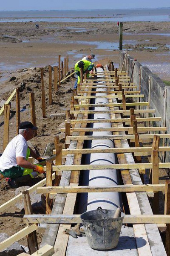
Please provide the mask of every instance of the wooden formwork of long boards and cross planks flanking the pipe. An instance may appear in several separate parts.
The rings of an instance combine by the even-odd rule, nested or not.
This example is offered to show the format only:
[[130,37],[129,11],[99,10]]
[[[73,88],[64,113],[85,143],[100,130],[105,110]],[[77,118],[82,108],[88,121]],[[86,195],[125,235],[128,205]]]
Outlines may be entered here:
[[[135,89],[136,86],[133,83],[129,83],[130,78],[125,76],[125,73],[119,73],[119,83],[122,84],[122,89],[116,85],[115,72],[109,72],[105,67],[105,81],[109,90],[108,106],[111,108],[111,119],[104,120],[104,122],[111,122],[112,127],[109,131],[113,132],[111,137],[105,137],[105,139],[112,139],[115,143],[115,148],[109,148],[102,150],[102,152],[113,152],[117,154],[119,164],[114,164],[113,169],[119,169],[122,175],[123,185],[112,187],[90,187],[90,186],[78,186],[79,185],[79,173],[80,170],[87,169],[110,169],[109,166],[96,166],[96,165],[81,165],[82,154],[89,153],[101,153],[97,149],[84,149],[84,140],[101,139],[99,136],[85,136],[86,131],[102,131],[102,128],[98,130],[95,128],[87,128],[88,122],[94,122],[94,120],[88,119],[89,107],[95,106],[89,104],[91,99],[91,88],[96,81],[95,78],[85,80],[80,87],[78,87],[77,93],[71,103],[71,111],[67,114],[65,131],[65,149],[62,149],[59,143],[56,143],[56,163],[55,166],[46,166],[47,170],[47,185],[51,184],[54,175],[51,175],[51,168],[55,172],[62,172],[59,186],[46,186],[43,181],[40,184],[36,184],[37,192],[49,195],[49,198],[55,198],[53,209],[50,215],[25,215],[24,220],[32,225],[38,223],[48,223],[45,230],[45,235],[42,239],[41,246],[49,244],[54,246],[55,255],[65,255],[67,250],[67,244],[69,237],[63,234],[65,228],[70,229],[71,223],[79,223],[81,219],[79,215],[74,215],[74,207],[76,205],[77,193],[82,192],[126,192],[127,202],[130,209],[130,215],[126,215],[124,218],[125,224],[133,224],[134,234],[136,237],[136,244],[139,255],[166,255],[163,243],[158,232],[158,226],[165,226],[170,224],[169,207],[167,206],[167,198],[169,196],[169,184],[159,185],[159,168],[168,168],[170,163],[159,163],[159,152],[170,151],[170,147],[166,145],[159,147],[159,140],[164,140],[170,137],[170,134],[140,134],[147,131],[158,131],[165,133],[166,127],[138,127],[140,122],[155,121],[159,122],[160,117],[136,117],[140,113],[154,113],[154,110],[135,109],[127,110],[127,107],[147,106],[148,102],[136,102],[126,103],[127,96],[131,98],[140,97]],[[94,88],[94,87],[93,87]],[[112,91],[111,91],[112,90]],[[93,92],[94,93],[94,92]],[[124,94],[125,93],[125,94]],[[79,95],[79,96],[76,96]],[[124,97],[124,95],[127,95]],[[94,96],[93,96],[94,97]],[[117,103],[116,99],[122,101]],[[97,105],[100,106],[100,105]],[[102,106],[102,105],[101,105]],[[122,108],[122,109],[121,109]],[[130,118],[121,118],[122,115],[130,115]],[[99,120],[98,120],[99,121]],[[124,127],[123,123],[129,125]],[[128,134],[125,134],[125,131]],[[150,147],[140,147],[140,141],[142,139],[149,138],[153,140],[153,144]],[[133,147],[127,147],[127,140],[133,143]],[[135,160],[141,160],[141,156],[151,155],[150,163],[135,163]],[[130,163],[127,159],[127,154],[130,159]],[[62,165],[62,157],[65,158],[65,164]],[[142,167],[142,168],[141,168]],[[144,185],[140,175],[145,173],[145,169],[151,169],[150,175],[152,177],[152,184]],[[74,172],[73,172],[74,171]],[[142,177],[143,178],[143,177]],[[165,215],[158,214],[158,192],[163,191],[166,193],[165,200]],[[154,208],[153,211],[150,207],[147,199],[146,192],[154,193]],[[8,204],[9,206],[10,204]],[[4,207],[3,207],[4,209]],[[154,213],[157,213],[153,215]],[[30,226],[28,226],[30,227]],[[37,227],[37,226],[36,226]],[[168,236],[167,230],[167,236]],[[146,244],[140,244],[138,238],[142,237]],[[154,239],[154,242],[153,242]],[[167,249],[168,250],[168,249]],[[156,254],[157,253],[157,254]]]

